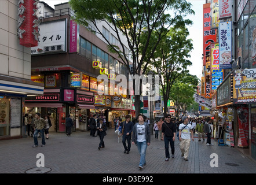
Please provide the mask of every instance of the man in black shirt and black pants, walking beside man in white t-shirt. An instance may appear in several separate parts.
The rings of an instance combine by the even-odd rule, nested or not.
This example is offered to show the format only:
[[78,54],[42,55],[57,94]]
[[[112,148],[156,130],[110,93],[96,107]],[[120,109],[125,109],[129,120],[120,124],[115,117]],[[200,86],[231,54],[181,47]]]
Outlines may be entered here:
[[171,157],[174,158],[174,140],[175,140],[175,132],[176,127],[173,121],[171,121],[171,115],[166,115],[166,121],[163,122],[162,125],[162,139],[164,135],[164,147],[165,147],[165,156],[166,160],[169,161],[170,153],[169,153],[169,142],[171,145]]

